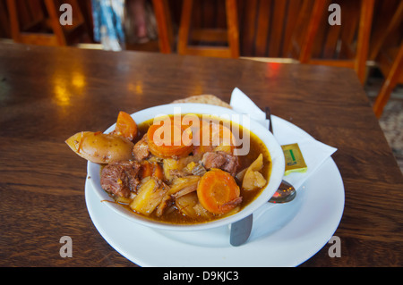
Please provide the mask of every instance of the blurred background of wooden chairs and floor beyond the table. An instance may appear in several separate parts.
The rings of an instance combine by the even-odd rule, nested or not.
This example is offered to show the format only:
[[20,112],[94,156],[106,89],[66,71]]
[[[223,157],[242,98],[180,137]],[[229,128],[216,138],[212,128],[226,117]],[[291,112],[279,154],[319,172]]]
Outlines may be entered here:
[[0,42],[354,69],[403,172],[402,38],[403,0],[0,0]]

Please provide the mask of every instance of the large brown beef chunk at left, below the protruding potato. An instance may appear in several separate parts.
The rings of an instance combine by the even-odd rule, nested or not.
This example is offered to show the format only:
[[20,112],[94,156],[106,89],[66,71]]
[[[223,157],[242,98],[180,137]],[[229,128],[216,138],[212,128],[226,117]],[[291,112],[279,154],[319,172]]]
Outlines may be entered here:
[[118,197],[130,197],[139,184],[140,163],[122,161],[110,163],[101,172],[101,187]]

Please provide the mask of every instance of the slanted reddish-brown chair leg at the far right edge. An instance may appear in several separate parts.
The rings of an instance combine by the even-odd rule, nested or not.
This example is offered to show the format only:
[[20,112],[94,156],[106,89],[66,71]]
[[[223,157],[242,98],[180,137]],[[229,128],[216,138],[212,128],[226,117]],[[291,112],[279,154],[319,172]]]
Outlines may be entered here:
[[399,47],[399,53],[396,56],[388,76],[382,84],[381,91],[378,96],[376,96],[375,102],[373,104],[373,112],[375,116],[379,119],[381,118],[383,108],[390,98],[390,93],[393,91],[393,88],[398,84],[398,80],[403,71],[403,44]]

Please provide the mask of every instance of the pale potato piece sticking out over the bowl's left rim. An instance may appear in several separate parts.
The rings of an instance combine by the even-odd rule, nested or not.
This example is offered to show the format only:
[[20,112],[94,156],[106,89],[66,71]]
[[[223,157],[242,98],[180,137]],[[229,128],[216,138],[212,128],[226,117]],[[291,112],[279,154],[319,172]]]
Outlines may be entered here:
[[102,132],[81,131],[65,140],[73,152],[92,163],[114,163],[133,159],[133,142]]

